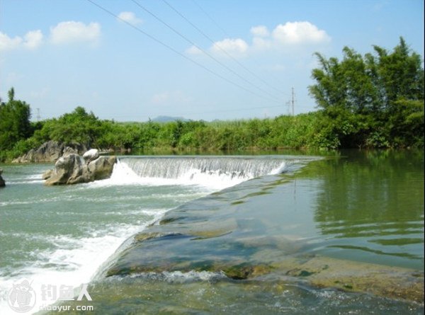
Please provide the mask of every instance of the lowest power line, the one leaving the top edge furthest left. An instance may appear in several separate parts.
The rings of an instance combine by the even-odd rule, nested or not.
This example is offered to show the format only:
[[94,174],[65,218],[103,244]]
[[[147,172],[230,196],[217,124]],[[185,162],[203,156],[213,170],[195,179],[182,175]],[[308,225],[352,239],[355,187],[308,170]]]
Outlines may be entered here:
[[[255,93],[254,91],[249,90],[248,88],[245,88],[244,86],[241,86],[240,84],[237,84],[234,81],[231,81],[227,78],[225,78],[225,76],[222,76],[220,74],[217,74],[217,72],[212,71],[211,69],[209,69],[208,67],[205,67],[203,64],[200,64],[199,62],[196,62],[195,60],[187,57],[186,55],[183,55],[181,52],[179,52],[178,50],[175,50],[173,47],[171,47],[170,45],[166,44],[165,42],[162,42],[162,40],[159,40],[157,38],[155,38],[154,36],[150,35],[149,33],[145,32],[144,30],[138,28],[136,25],[129,23],[128,21],[125,21],[123,18],[120,18],[119,16],[117,16],[115,13],[109,11],[107,8],[104,8],[103,6],[101,6],[100,4],[96,4],[96,2],[94,2],[93,0],[86,0],[88,2],[90,2],[91,4],[93,4],[94,6],[97,6],[98,8],[100,8],[101,10],[105,11],[106,13],[108,13],[109,15],[113,16],[114,18],[117,18],[118,20],[122,21],[123,23],[126,23],[127,25],[130,25],[132,28],[134,28],[135,30],[137,30],[138,32],[142,33],[143,35],[147,36],[148,38],[150,38],[151,40],[154,40],[154,42],[157,42],[158,44],[166,47],[167,49],[171,50],[172,52],[176,53],[177,55],[180,55],[181,57],[183,57],[184,59],[192,62],[193,64],[196,64],[198,67],[204,69],[205,71],[208,71],[210,74],[213,74],[214,76],[217,76],[218,78],[226,81],[229,84],[232,84],[234,86],[237,86],[238,88],[241,88],[242,90],[251,93],[255,96],[258,96],[260,98],[265,98],[264,96],[259,95],[258,93]],[[270,99],[270,98],[268,98]],[[275,102],[278,102],[276,100],[273,100]]]

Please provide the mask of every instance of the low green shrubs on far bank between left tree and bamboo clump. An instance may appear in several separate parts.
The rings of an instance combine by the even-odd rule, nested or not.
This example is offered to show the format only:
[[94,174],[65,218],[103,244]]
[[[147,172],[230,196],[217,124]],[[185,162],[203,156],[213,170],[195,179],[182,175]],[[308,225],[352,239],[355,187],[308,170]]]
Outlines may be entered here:
[[147,153],[317,147],[314,126],[321,116],[318,112],[263,120],[114,122],[99,120],[78,107],[60,118],[38,123],[31,137],[14,142],[0,157],[13,159],[50,139]]

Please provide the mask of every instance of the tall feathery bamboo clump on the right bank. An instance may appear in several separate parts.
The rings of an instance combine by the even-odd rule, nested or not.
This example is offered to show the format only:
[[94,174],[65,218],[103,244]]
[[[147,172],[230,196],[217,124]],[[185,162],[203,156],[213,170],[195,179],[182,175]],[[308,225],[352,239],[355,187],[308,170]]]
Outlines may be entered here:
[[403,38],[392,52],[373,48],[362,56],[344,47],[341,61],[316,54],[309,89],[327,118],[322,136],[331,147],[423,147],[421,57]]

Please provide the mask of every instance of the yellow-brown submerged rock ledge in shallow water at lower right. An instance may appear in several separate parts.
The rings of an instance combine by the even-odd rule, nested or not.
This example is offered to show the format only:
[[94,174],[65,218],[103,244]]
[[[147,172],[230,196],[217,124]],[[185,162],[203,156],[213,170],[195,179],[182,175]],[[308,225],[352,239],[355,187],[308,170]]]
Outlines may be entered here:
[[273,268],[314,287],[424,303],[424,272],[419,270],[325,256],[289,258],[273,264]]

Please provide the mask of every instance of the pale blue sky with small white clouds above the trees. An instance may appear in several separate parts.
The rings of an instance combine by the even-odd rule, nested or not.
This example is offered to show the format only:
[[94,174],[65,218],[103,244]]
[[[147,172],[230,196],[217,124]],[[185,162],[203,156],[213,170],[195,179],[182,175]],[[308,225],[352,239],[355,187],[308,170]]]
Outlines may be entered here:
[[91,1],[110,13],[0,0],[2,99],[13,86],[33,120],[78,105],[118,121],[264,118],[289,113],[292,88],[295,114],[315,109],[314,52],[391,50],[403,36],[424,57],[423,0]]

